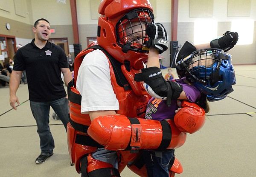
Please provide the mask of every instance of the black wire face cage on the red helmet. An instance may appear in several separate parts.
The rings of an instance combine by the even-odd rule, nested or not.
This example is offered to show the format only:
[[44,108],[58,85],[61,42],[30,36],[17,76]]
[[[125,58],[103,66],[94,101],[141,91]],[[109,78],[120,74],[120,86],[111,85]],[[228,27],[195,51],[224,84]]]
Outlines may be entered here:
[[[122,51],[125,53],[128,50],[148,52],[146,48],[148,36],[145,35],[145,31],[147,25],[151,23],[154,23],[154,14],[149,9],[135,9],[125,14],[116,23],[116,40],[122,47]],[[134,27],[140,30],[134,31]],[[130,34],[127,33],[128,30],[131,31]]]

